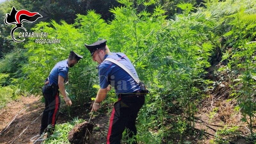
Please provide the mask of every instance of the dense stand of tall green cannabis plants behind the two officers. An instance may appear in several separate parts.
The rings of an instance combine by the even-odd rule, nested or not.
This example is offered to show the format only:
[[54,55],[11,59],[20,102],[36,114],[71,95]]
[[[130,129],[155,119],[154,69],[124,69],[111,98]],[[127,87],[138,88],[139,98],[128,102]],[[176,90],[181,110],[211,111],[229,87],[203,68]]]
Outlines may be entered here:
[[[167,129],[161,125],[170,113],[168,103],[177,100],[178,105],[184,106],[189,121],[194,117],[196,100],[201,93],[199,88],[207,88],[209,83],[202,79],[202,75],[204,68],[210,66],[208,61],[213,45],[209,41],[212,36],[209,30],[215,20],[213,15],[190,12],[194,9],[191,4],[178,4],[184,12],[177,15],[176,20],[166,20],[161,6],[156,6],[153,12],[148,11],[153,1],[141,1],[135,5],[128,0],[119,2],[124,6],[110,9],[115,18],[109,23],[95,11],[88,11],[85,16],[77,15],[77,29],[64,21],[61,24],[54,21],[37,24],[34,31],[61,38],[61,44],[34,44],[33,39],[26,44],[29,63],[22,68],[27,75],[22,84],[30,92],[39,93],[54,64],[66,59],[69,51],[74,50],[84,55],[84,59],[70,69],[71,85],[68,89],[77,101],[88,101],[95,95],[92,84],[98,82],[94,69],[96,63],[92,62],[84,43],[91,44],[98,38],[108,39],[110,51],[125,53],[152,92],[141,110],[144,114],[139,117],[140,121],[149,118],[151,122],[138,126],[138,140],[159,143],[167,134],[164,134]],[[138,11],[140,4],[144,5],[142,11]],[[151,133],[153,130],[160,133]]]

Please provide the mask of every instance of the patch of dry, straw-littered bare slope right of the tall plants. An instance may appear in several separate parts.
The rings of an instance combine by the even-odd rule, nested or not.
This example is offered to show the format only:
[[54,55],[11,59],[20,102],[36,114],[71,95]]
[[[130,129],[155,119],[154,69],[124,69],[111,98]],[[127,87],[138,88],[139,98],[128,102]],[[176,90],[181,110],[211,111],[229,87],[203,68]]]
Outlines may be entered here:
[[[247,137],[250,135],[250,130],[244,122],[241,121],[243,117],[239,111],[235,110],[237,102],[235,99],[229,99],[230,88],[227,83],[223,83],[225,87],[217,87],[210,97],[202,101],[201,107],[196,113],[195,128],[207,132],[208,140],[200,142],[210,143],[209,140],[216,138],[216,132],[223,140],[228,140],[235,144],[250,144]],[[234,135],[221,135],[223,130],[236,127]],[[211,134],[211,135],[210,135]]]

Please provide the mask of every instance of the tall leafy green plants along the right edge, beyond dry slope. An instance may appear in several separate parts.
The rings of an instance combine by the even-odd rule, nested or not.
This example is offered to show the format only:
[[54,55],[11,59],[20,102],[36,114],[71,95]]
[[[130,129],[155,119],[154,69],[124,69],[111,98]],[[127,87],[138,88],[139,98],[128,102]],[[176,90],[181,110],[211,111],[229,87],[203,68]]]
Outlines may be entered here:
[[256,14],[245,13],[243,9],[228,16],[232,19],[229,24],[232,29],[224,34],[231,49],[224,53],[223,60],[228,60],[227,68],[233,71],[238,106],[243,118],[253,136],[253,122],[255,121],[255,84],[256,84]]

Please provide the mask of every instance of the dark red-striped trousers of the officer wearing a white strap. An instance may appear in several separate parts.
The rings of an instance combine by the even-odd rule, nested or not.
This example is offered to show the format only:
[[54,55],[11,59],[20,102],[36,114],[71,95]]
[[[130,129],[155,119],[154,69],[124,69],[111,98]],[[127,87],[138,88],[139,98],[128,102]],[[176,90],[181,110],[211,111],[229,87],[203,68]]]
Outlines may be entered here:
[[[145,102],[145,96],[121,97],[114,104],[109,120],[107,144],[120,144],[124,129],[128,130],[128,138],[137,134],[135,122],[140,108]],[[134,141],[133,144],[137,142]]]

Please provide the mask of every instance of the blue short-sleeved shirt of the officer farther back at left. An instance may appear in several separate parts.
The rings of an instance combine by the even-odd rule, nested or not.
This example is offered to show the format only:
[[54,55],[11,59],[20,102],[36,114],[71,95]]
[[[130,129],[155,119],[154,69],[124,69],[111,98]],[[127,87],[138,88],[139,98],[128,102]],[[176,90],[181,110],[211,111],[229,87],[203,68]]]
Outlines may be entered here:
[[68,76],[68,60],[58,62],[50,72],[49,80],[51,84],[58,84],[58,77],[62,76],[65,81]]

